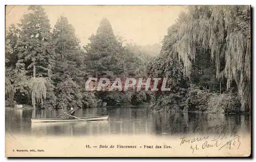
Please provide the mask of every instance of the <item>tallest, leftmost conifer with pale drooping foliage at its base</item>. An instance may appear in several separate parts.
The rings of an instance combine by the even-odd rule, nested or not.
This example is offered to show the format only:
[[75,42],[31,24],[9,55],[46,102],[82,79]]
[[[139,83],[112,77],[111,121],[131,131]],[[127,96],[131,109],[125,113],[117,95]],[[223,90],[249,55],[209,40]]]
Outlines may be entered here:
[[[46,99],[46,77],[50,78],[54,66],[54,48],[51,41],[49,19],[41,6],[29,6],[30,13],[20,20],[17,44],[18,62],[24,63],[30,80],[32,104]],[[33,70],[32,70],[33,67]]]

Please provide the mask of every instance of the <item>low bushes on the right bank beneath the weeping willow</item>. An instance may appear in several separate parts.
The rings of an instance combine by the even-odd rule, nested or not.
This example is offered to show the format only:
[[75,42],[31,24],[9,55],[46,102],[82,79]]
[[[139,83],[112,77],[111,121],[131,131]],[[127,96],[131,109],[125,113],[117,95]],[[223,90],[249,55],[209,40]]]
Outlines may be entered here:
[[211,93],[191,85],[176,93],[153,94],[151,108],[157,111],[238,113],[241,112],[241,103],[236,93]]

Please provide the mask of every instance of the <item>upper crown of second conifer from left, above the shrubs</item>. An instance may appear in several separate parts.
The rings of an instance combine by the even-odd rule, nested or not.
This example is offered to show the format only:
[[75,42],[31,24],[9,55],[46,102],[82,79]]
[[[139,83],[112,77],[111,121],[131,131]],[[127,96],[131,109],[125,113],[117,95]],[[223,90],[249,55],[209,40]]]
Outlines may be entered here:
[[79,39],[75,35],[75,29],[69,24],[67,17],[61,15],[54,25],[53,35],[56,53],[56,65],[53,69],[55,84],[73,78],[76,82],[82,82],[84,65],[83,56],[79,45]]

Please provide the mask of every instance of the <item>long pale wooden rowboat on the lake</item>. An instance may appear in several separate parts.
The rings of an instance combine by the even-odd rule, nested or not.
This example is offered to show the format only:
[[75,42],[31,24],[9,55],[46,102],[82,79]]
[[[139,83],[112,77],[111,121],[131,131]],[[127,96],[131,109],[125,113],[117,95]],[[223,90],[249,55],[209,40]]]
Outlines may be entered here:
[[63,119],[63,118],[32,118],[32,123],[42,123],[42,122],[78,122],[78,121],[98,121],[98,120],[108,120],[109,116],[96,116],[96,117],[82,117],[80,119]]

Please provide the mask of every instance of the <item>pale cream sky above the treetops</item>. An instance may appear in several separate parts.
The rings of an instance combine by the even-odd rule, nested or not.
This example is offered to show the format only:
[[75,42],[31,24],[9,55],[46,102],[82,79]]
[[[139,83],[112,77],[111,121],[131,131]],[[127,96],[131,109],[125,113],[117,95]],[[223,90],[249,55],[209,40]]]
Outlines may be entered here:
[[[185,6],[43,6],[53,27],[61,14],[71,23],[81,45],[90,41],[103,17],[109,19],[114,34],[127,43],[153,45],[160,43],[167,28],[178,18]],[[6,27],[19,23],[28,6],[7,6]]]

